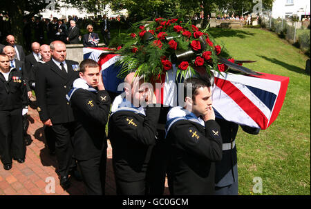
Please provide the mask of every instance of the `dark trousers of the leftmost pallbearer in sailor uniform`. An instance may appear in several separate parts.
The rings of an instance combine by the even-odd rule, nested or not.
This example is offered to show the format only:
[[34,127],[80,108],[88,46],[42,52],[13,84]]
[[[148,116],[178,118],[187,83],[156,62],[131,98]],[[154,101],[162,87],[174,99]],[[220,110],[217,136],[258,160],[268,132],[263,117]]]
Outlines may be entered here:
[[106,160],[107,150],[104,149],[102,156],[77,161],[88,195],[105,194]]

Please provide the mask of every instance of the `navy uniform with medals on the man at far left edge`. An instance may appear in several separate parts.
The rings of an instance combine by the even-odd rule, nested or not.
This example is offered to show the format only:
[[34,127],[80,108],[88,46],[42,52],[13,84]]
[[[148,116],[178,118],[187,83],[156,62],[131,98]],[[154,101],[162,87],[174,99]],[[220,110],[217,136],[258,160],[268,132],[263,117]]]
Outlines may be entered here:
[[3,165],[12,164],[12,158],[25,159],[23,117],[27,106],[26,83],[21,72],[11,68],[8,81],[0,73],[0,155]]

